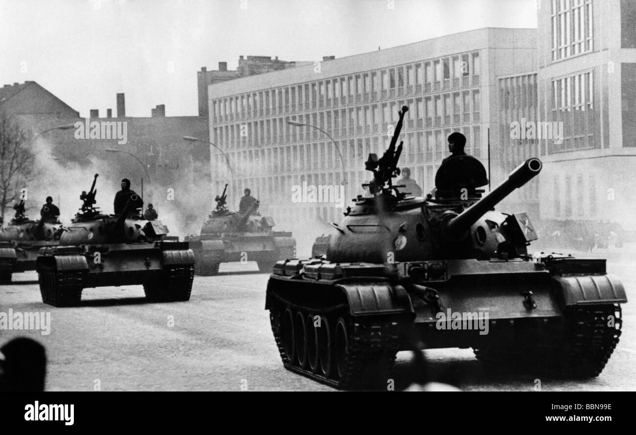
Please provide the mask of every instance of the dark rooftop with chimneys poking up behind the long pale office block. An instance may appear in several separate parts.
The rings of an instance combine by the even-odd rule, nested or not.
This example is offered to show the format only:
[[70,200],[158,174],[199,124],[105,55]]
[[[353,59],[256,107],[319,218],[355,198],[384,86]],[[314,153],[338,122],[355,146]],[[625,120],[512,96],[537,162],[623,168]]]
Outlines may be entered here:
[[269,56],[247,56],[247,58],[239,56],[239,67],[236,70],[228,71],[227,62],[219,62],[218,70],[208,71],[206,67],[202,67],[201,70],[197,72],[199,116],[208,116],[209,114],[207,107],[207,87],[211,84],[222,83],[239,77],[265,74],[265,72],[295,68],[307,64],[313,64],[313,62],[287,62],[285,60],[279,60],[278,56],[273,59]]

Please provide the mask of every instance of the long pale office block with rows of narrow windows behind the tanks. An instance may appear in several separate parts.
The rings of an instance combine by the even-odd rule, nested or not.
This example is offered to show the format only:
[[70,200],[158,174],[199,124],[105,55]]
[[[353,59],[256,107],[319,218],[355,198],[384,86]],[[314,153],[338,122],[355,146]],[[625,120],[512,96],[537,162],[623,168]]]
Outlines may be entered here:
[[294,186],[344,184],[349,205],[370,179],[364,160],[384,152],[403,105],[410,111],[401,166],[425,192],[434,187],[453,131],[466,135],[466,152],[486,167],[492,131],[489,176],[496,185],[508,170],[499,158],[508,146],[497,135],[499,77],[536,72],[536,45],[536,29],[478,29],[208,86],[211,141],[234,170],[232,180],[211,147],[213,185],[221,192],[232,182],[233,206],[250,187],[261,213],[305,225],[315,217],[337,221],[343,208],[294,203]]

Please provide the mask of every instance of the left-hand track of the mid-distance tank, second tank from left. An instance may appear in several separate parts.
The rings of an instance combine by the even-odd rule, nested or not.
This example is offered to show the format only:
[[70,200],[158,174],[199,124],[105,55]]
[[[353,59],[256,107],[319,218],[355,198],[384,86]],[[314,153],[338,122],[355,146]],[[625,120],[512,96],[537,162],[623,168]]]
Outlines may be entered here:
[[38,271],[38,281],[42,302],[54,307],[72,307],[81,300],[83,272],[57,271],[55,267],[44,266]]

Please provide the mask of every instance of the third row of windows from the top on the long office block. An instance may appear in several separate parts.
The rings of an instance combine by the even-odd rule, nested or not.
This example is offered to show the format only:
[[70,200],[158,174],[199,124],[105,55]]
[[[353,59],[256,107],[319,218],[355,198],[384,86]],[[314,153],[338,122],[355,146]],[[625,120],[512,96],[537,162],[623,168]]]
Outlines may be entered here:
[[[400,164],[440,163],[448,155],[447,138],[453,131],[466,136],[466,152],[481,158],[481,127],[464,126],[456,129],[413,131],[401,135],[403,151]],[[364,161],[371,152],[382,156],[390,138],[387,135],[314,142],[249,150],[228,151],[226,155],[232,165],[236,179],[265,176],[270,173],[310,173],[331,170],[363,168]],[[226,179],[230,174],[225,157],[212,154],[213,178]]]

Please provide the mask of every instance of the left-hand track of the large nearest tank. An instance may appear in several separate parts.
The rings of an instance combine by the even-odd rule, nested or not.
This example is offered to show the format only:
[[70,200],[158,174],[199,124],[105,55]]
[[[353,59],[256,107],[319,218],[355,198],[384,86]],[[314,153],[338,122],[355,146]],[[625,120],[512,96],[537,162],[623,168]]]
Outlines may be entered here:
[[[329,375],[321,374],[321,361],[318,362],[318,370],[312,370],[307,361],[303,366],[300,366],[295,355],[293,360],[287,355],[282,331],[282,315],[287,307],[293,310],[294,318],[297,312],[301,312],[303,318],[312,314],[312,316],[320,315],[327,319],[331,345]],[[338,374],[335,350],[335,329],[338,318],[344,319],[349,332],[349,346],[341,375]],[[287,370],[337,389],[377,389],[378,387],[382,389],[386,387],[399,349],[399,323],[396,319],[352,318],[348,306],[345,304],[324,310],[312,310],[277,298],[270,310],[270,322],[280,358]]]

